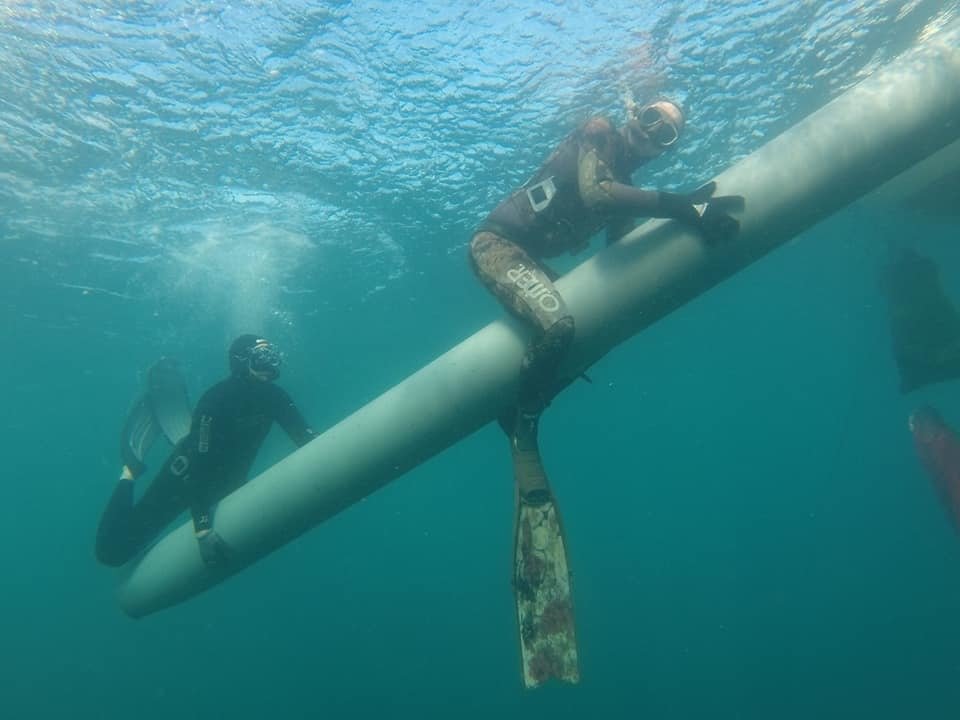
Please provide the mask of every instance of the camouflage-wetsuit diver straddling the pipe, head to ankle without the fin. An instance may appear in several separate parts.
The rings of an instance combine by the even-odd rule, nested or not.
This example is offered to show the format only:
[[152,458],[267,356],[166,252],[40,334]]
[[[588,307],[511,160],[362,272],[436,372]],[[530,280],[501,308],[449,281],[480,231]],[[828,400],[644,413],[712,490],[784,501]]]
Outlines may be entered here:
[[631,108],[621,129],[605,117],[590,118],[474,234],[476,275],[508,311],[539,331],[523,358],[518,412],[501,421],[508,433],[535,435],[536,419],[560,389],[557,368],[574,337],[573,317],[543,258],[580,252],[604,228],[607,243],[615,242],[635,217],[673,218],[710,242],[737,232],[737,221],[723,209],[731,198],[712,197],[713,183],[687,195],[631,184],[638,167],[674,146],[684,122],[666,99]]

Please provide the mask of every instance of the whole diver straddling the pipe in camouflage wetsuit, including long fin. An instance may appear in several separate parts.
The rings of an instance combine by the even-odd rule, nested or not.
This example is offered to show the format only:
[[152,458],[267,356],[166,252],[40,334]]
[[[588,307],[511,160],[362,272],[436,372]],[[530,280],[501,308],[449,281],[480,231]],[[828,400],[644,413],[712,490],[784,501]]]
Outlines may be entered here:
[[534,331],[516,405],[500,418],[517,486],[514,594],[527,687],[546,677],[579,677],[566,551],[537,444],[542,412],[570,381],[558,370],[575,327],[553,284],[557,275],[543,260],[579,253],[603,229],[607,243],[616,242],[637,217],[679,220],[710,244],[736,235],[739,223],[729,211],[743,198],[714,197],[713,182],[689,194],[632,185],[635,170],[676,146],[684,124],[683,111],[667,99],[629,106],[619,129],[606,117],[590,118],[494,208],[470,242],[476,276]]

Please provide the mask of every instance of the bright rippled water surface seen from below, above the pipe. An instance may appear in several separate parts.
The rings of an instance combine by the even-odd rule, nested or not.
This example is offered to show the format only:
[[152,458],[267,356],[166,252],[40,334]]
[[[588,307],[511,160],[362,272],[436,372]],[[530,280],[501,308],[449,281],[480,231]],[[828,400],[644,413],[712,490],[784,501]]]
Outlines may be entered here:
[[[470,227],[590,113],[619,116],[630,96],[679,99],[689,139],[644,182],[689,186],[955,11],[5,3],[4,241],[46,266],[22,268],[37,284],[189,296],[192,283],[172,290],[170,273],[207,286],[227,279],[204,268],[265,263],[291,291],[349,272],[351,294],[364,295],[461,252]],[[57,267],[67,257],[72,267]]]

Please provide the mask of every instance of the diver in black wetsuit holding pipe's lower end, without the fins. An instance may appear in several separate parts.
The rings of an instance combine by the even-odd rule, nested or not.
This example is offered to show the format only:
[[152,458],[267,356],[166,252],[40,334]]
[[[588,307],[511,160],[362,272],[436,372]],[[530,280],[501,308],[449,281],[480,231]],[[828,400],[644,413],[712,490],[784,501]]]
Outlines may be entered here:
[[134,480],[144,466],[125,440],[123,471],[97,531],[100,562],[123,565],[187,509],[204,562],[225,562],[229,550],[213,529],[212,508],[246,481],[272,424],[279,423],[298,446],[316,436],[290,396],[272,382],[281,362],[273,345],[241,335],[230,345],[229,360],[230,377],[200,398],[189,433],[137,502]]

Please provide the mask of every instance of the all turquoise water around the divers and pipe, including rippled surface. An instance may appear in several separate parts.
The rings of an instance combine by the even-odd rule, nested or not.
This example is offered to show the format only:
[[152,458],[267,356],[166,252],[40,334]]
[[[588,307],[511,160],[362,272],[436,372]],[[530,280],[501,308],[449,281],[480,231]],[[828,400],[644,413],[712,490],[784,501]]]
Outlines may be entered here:
[[682,100],[637,181],[690,188],[957,9],[4,4],[4,716],[955,718],[960,541],[906,415],[960,425],[960,388],[897,393],[878,289],[907,237],[960,293],[955,216],[851,208],[555,402],[578,687],[520,689],[492,427],[145,620],[92,540],[158,355],[196,396],[263,332],[328,427],[500,315],[470,229],[589,113]]

